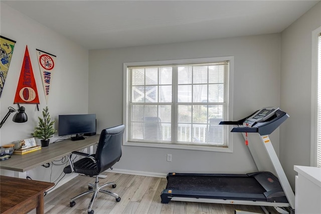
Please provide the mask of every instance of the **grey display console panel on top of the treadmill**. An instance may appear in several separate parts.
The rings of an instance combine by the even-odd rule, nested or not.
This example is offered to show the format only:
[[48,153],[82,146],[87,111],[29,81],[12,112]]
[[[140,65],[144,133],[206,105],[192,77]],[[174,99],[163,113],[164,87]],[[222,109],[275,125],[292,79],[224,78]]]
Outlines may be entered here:
[[267,119],[272,117],[277,110],[279,110],[277,107],[262,108],[250,117],[246,118],[243,122],[243,126],[253,127],[257,123],[265,122]]

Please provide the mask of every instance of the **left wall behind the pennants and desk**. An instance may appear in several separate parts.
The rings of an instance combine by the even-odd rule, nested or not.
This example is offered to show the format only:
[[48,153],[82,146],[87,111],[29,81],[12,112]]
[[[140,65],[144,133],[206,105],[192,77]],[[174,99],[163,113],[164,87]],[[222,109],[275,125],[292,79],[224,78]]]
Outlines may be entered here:
[[[10,115],[0,130],[0,145],[5,145],[13,141],[32,137],[31,133],[38,124],[37,116],[41,115],[41,111],[46,105],[49,108],[52,119],[56,121],[58,121],[59,114],[88,112],[88,51],[54,31],[23,16],[3,2],[1,2],[0,6],[0,35],[17,41],[0,100],[0,116],[3,118],[7,114],[9,106],[18,108],[13,103],[26,45],[28,45],[40,100],[40,111],[37,111],[35,104],[21,104],[26,108],[28,115],[28,122],[26,123],[14,123],[12,121],[13,114]],[[48,104],[46,104],[42,87],[36,49],[57,56],[55,71],[51,79]],[[55,127],[56,129],[58,128],[57,123]],[[51,142],[56,140],[57,137],[58,134],[55,134]],[[37,141],[40,144],[38,139]],[[32,170],[30,175],[33,179],[49,180],[50,172],[50,168],[39,167]],[[2,173],[8,172],[2,170]],[[60,173],[61,169],[57,169],[54,172],[57,176]]]

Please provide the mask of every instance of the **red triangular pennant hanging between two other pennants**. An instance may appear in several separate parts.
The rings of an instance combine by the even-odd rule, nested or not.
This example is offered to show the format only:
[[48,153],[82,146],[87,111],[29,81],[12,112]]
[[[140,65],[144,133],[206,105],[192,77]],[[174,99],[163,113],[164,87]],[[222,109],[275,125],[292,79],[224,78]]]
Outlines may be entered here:
[[29,57],[28,46],[26,46],[24,62],[22,64],[20,78],[17,86],[15,102],[40,104],[34,72]]

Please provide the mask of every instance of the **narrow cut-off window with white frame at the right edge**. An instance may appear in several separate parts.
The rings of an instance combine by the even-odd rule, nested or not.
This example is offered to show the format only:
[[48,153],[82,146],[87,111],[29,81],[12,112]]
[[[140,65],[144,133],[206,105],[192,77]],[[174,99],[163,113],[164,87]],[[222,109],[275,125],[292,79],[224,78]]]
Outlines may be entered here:
[[321,167],[321,27],[312,33],[311,165]]

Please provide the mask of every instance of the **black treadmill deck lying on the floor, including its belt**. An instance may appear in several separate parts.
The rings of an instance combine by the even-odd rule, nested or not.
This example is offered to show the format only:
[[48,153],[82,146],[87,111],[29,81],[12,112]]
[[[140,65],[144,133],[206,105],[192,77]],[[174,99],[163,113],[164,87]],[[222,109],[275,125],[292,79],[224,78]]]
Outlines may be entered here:
[[162,203],[172,197],[284,202],[278,179],[270,172],[249,174],[169,173]]

